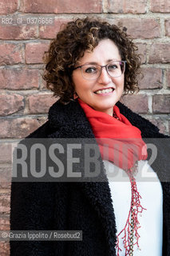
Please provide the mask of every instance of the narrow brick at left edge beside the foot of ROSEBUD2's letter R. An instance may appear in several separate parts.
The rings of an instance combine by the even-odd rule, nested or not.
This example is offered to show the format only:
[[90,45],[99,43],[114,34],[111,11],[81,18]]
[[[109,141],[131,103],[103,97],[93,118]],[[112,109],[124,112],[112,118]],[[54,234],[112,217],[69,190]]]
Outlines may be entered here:
[[12,165],[0,166],[0,189],[10,189]]

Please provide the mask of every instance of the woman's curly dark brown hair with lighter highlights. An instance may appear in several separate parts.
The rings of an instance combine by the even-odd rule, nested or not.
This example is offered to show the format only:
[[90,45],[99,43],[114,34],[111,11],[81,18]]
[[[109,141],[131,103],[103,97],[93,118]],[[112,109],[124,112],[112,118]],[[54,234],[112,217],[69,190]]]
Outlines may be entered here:
[[45,72],[43,79],[53,91],[53,96],[67,103],[75,93],[72,72],[85,50],[93,50],[105,38],[111,39],[117,46],[121,59],[127,63],[125,70],[125,94],[138,91],[137,75],[140,74],[140,55],[132,38],[121,26],[111,25],[100,18],[77,18],[68,22],[57,33],[44,54]]

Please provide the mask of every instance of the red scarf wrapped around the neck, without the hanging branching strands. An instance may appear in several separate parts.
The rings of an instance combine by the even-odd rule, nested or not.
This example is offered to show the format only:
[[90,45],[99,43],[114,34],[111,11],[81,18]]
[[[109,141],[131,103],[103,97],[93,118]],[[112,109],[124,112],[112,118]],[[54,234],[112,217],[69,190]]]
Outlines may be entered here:
[[[132,126],[128,119],[120,113],[118,106],[113,107],[113,113],[119,119],[93,110],[80,98],[78,101],[92,126],[103,159],[114,162],[121,169],[128,170],[134,166],[136,161],[147,158],[146,145],[141,138],[140,130],[136,126]],[[108,150],[106,145],[109,147]]]

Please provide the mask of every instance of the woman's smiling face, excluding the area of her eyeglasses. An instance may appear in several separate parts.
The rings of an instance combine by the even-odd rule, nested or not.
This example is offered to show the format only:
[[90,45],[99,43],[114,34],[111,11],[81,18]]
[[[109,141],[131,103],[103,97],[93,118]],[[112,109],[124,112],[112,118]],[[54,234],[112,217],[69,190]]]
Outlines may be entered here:
[[[119,50],[112,40],[103,39],[93,52],[85,51],[77,66],[89,63],[104,66],[113,61],[121,61]],[[124,90],[124,74],[113,78],[109,76],[105,68],[102,68],[99,78],[86,80],[82,77],[81,68],[78,68],[73,70],[73,85],[83,102],[93,107],[94,110],[113,115],[113,106],[119,101]]]

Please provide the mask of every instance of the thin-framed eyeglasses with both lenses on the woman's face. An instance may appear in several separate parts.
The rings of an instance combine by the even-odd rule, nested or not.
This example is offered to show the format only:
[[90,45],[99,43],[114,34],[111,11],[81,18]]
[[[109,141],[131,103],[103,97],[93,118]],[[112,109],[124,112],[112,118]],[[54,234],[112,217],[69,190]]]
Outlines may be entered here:
[[113,78],[121,77],[122,74],[125,72],[125,63],[126,61],[117,61],[117,62],[110,62],[105,66],[101,66],[98,64],[85,64],[81,66],[75,67],[73,70],[77,70],[81,68],[81,74],[83,78],[87,80],[95,80],[100,77],[101,70],[105,67],[105,70],[108,74]]

